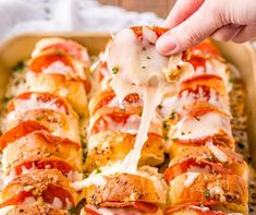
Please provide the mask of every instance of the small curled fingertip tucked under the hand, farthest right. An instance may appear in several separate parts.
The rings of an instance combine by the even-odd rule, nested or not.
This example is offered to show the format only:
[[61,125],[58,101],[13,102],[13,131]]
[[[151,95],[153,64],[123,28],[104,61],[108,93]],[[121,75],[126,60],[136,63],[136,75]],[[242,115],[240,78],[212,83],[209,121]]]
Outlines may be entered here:
[[211,34],[211,37],[217,40],[229,41],[235,37],[235,35],[239,34],[243,27],[244,26],[241,25],[229,24],[217,29],[214,34]]

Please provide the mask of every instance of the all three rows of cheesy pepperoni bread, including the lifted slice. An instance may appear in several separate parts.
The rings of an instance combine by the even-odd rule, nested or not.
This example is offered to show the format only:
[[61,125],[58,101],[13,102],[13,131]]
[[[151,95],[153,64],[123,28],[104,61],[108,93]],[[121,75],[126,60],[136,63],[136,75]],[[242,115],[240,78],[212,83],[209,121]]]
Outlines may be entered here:
[[92,72],[82,45],[36,44],[5,94],[0,214],[254,214],[243,84],[210,39],[160,56],[164,32],[121,31]]

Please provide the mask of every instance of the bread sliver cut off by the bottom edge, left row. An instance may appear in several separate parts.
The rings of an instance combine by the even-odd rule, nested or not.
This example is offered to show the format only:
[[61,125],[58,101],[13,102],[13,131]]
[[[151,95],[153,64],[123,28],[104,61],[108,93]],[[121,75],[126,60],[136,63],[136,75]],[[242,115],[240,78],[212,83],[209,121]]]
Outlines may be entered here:
[[49,206],[39,205],[17,205],[7,215],[69,215],[68,211],[56,210]]

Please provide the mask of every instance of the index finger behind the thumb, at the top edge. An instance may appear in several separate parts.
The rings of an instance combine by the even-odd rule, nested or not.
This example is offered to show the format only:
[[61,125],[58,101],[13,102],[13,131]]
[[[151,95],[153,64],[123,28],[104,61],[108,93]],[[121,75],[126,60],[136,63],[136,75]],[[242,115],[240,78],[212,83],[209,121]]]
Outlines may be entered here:
[[205,0],[178,0],[164,21],[164,26],[172,28],[195,13]]

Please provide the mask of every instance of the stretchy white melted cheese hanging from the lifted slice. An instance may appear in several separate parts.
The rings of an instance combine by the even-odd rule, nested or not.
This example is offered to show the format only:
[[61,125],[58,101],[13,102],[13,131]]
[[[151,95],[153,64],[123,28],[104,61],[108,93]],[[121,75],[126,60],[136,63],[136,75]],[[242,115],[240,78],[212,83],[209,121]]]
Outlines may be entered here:
[[163,70],[168,67],[169,58],[157,52],[156,40],[157,35],[149,27],[143,27],[142,40],[131,28],[126,28],[117,35],[106,51],[108,69],[114,73],[111,86],[120,105],[130,93],[138,93],[144,100],[134,148],[121,164],[121,172],[136,172],[156,107],[163,94],[166,85]]

